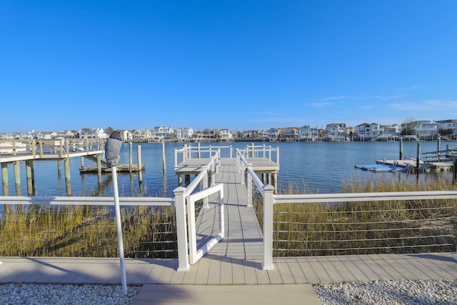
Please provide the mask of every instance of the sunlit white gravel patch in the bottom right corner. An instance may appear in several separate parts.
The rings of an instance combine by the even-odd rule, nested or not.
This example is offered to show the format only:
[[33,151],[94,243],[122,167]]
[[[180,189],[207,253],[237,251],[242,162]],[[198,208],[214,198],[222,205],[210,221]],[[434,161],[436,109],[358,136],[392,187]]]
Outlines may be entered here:
[[457,304],[457,281],[371,281],[313,287],[324,305]]

